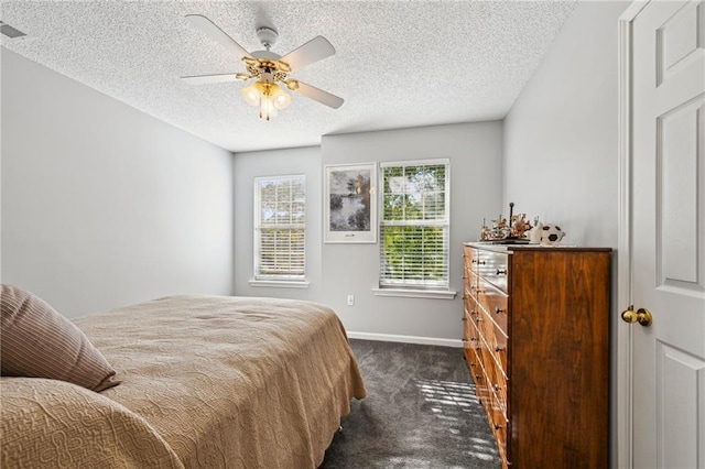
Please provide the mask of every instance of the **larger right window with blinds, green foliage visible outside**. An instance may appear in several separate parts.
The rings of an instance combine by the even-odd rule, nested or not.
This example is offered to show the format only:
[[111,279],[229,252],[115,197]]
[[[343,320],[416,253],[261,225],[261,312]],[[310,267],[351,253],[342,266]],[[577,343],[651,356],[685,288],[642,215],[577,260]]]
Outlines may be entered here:
[[380,288],[448,290],[448,160],[380,166]]

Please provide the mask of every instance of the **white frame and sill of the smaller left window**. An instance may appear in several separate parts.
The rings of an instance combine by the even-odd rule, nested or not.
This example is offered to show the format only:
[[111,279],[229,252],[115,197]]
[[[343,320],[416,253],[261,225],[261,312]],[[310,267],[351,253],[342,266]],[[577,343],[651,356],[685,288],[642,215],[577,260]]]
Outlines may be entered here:
[[[263,184],[268,182],[299,182],[304,193],[304,221],[302,223],[272,223],[268,226],[262,222],[262,188]],[[306,288],[308,282],[306,281],[306,176],[305,174],[293,175],[275,175],[275,176],[257,176],[254,177],[254,194],[253,194],[253,271],[252,280],[250,280],[251,286],[279,286],[279,287],[294,287]],[[289,199],[291,200],[291,199]],[[262,249],[261,249],[261,234],[262,230],[267,228],[278,229],[296,229],[303,230],[303,269],[301,273],[262,273]]]

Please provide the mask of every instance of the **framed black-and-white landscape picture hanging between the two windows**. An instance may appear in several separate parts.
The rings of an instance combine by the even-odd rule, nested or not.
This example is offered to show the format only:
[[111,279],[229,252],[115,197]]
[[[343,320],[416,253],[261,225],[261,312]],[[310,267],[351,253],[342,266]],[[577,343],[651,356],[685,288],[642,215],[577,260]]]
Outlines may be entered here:
[[377,242],[377,165],[325,166],[324,242]]

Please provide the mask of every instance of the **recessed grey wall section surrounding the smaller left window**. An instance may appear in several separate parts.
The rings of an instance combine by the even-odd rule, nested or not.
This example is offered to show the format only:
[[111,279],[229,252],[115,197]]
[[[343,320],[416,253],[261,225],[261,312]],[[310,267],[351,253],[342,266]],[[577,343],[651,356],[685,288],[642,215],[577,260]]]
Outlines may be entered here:
[[[321,146],[238,153],[235,156],[235,294],[316,301],[321,298]],[[254,177],[306,176],[306,280],[308,288],[251,286],[254,261]]]

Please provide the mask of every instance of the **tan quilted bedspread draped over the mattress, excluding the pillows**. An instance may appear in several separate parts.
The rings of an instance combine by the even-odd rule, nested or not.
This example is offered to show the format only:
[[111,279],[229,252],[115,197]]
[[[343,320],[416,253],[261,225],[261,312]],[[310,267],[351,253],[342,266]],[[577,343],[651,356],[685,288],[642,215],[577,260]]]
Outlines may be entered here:
[[100,394],[62,384],[131,411],[134,445],[115,439],[149,447],[149,467],[315,468],[350,400],[365,396],[343,325],[316,303],[171,296],[75,323],[122,384]]

